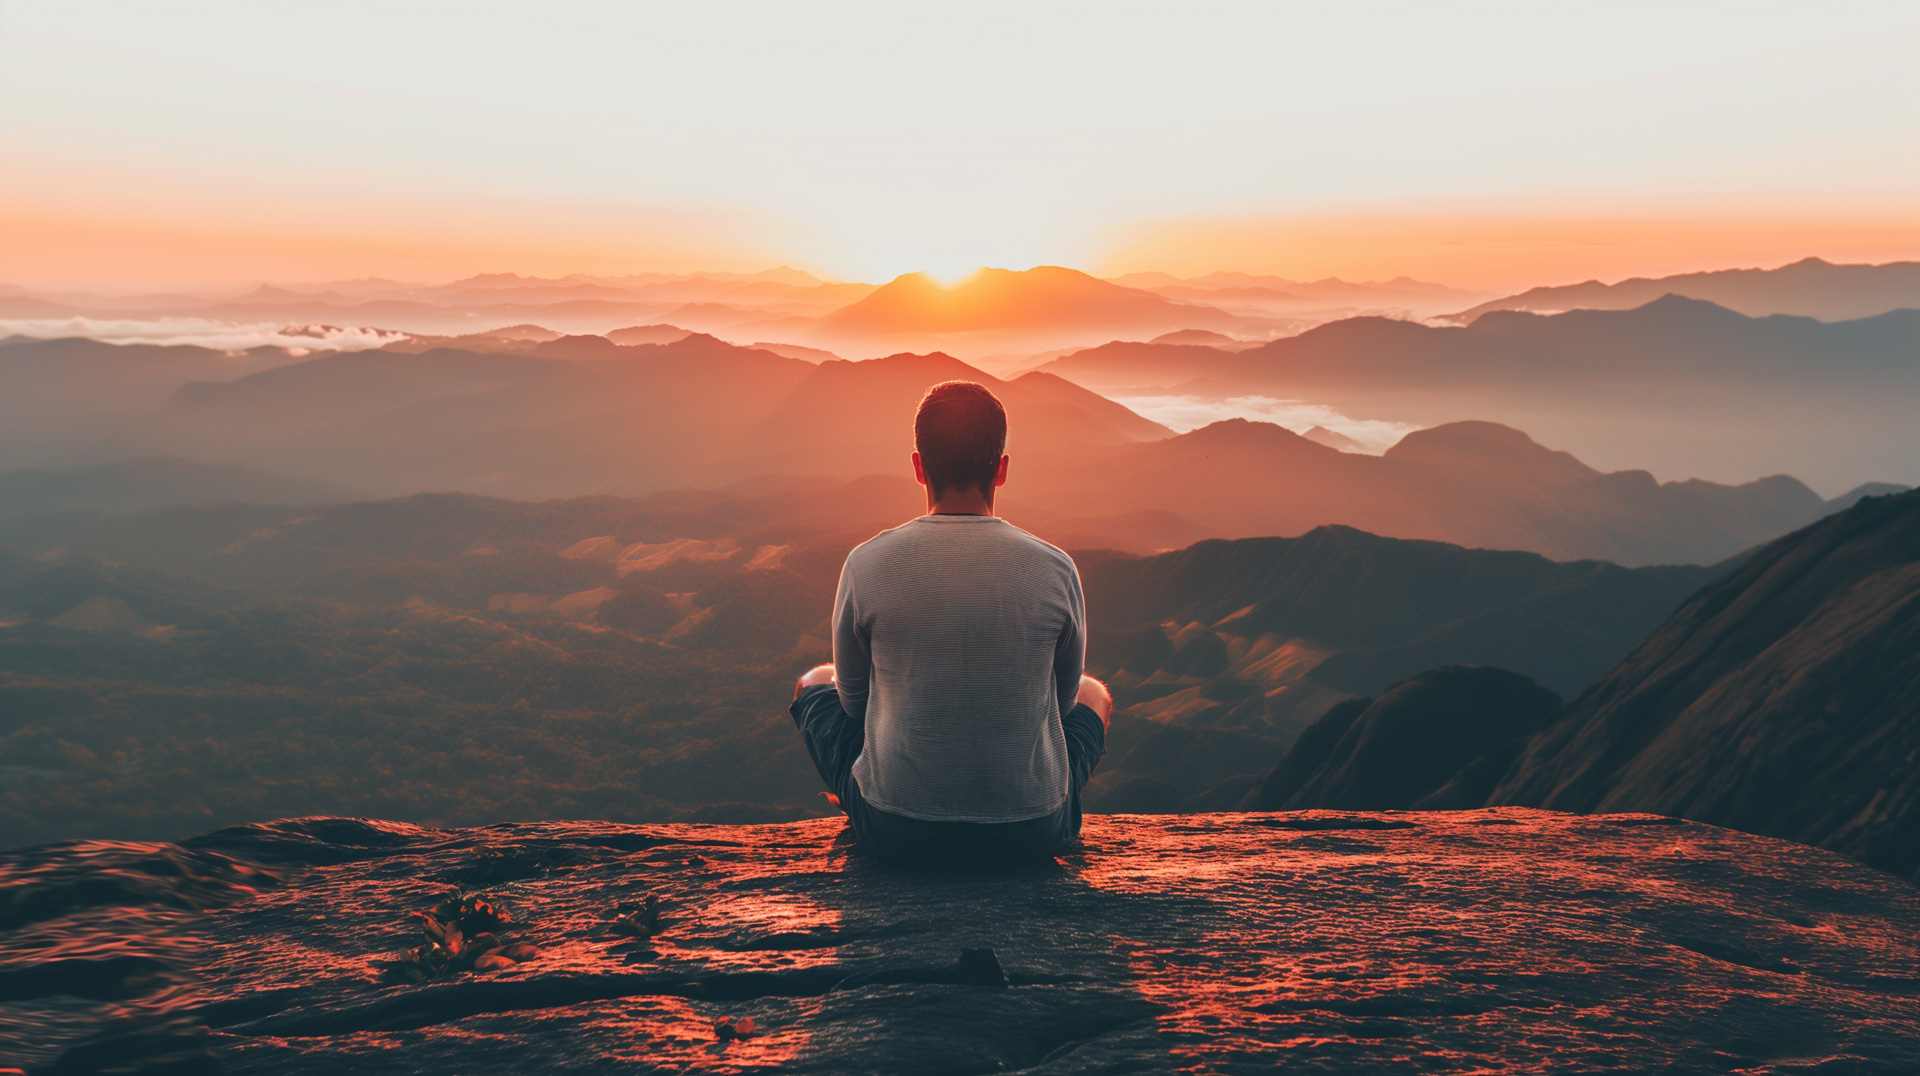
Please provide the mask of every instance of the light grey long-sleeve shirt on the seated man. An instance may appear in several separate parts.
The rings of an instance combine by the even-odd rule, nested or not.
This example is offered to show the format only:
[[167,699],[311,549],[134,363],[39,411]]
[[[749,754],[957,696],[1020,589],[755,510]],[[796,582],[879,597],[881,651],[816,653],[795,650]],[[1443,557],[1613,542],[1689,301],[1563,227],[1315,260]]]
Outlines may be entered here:
[[929,822],[1060,809],[1085,623],[1073,559],[993,515],[922,515],[847,553],[833,674],[866,721],[860,795]]

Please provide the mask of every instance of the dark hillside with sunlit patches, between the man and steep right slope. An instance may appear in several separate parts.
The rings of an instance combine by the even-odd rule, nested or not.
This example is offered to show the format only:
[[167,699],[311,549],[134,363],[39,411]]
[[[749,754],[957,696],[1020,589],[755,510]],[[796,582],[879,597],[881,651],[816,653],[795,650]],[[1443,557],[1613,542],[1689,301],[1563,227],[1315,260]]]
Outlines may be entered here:
[[[1498,663],[1578,692],[1716,573],[1555,563],[1344,526],[1075,559],[1089,669],[1121,707],[1089,805],[1119,813],[1231,809],[1296,734],[1296,753],[1311,742],[1315,719],[1434,665]],[[1428,761],[1438,769],[1423,792],[1488,746],[1484,730],[1442,717],[1476,749]],[[1377,757],[1369,749],[1348,769]]]

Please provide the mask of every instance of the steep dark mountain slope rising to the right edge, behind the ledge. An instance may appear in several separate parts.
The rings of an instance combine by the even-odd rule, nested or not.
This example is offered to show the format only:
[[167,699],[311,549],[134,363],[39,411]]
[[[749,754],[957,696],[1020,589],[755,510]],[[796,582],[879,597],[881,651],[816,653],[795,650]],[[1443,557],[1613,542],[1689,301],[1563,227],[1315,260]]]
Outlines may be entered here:
[[1492,803],[1653,811],[1920,872],[1920,494],[1749,557],[1574,699]]

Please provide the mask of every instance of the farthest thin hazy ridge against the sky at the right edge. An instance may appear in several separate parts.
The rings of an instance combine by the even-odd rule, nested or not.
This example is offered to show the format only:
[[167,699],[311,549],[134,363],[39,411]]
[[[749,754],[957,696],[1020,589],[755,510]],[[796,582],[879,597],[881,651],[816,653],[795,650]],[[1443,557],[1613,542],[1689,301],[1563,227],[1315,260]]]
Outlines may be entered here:
[[1586,281],[1528,288],[1521,294],[1484,302],[1448,315],[1471,323],[1496,309],[1559,313],[1569,309],[1630,309],[1661,296],[1707,300],[1749,317],[1774,313],[1851,321],[1893,309],[1920,309],[1920,261],[1884,265],[1836,265],[1803,257],[1778,269],[1716,269],[1674,277],[1634,277],[1615,284]]

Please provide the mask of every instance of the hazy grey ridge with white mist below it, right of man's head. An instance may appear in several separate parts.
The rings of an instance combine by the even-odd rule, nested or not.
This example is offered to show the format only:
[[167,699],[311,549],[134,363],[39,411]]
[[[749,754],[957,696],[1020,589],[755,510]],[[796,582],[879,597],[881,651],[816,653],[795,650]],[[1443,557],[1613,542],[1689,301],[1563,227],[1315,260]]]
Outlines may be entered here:
[[1250,350],[1110,342],[1037,367],[1116,400],[1311,402],[1428,427],[1492,419],[1586,459],[1682,475],[1912,482],[1920,309],[1822,323],[1703,300],[1492,311],[1467,327],[1356,317]]

